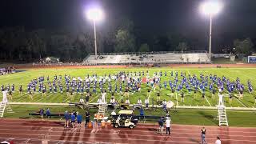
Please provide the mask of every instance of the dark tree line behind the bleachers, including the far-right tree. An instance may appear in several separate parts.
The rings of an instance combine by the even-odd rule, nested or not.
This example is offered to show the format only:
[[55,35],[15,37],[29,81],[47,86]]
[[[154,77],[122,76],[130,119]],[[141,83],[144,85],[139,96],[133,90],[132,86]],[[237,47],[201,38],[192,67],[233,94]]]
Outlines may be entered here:
[[[132,21],[125,19],[112,31],[102,33],[98,30],[98,52],[206,50],[196,38],[166,33],[145,40],[143,37],[146,36],[137,29]],[[78,31],[3,27],[0,29],[0,60],[35,62],[52,56],[60,58],[62,62],[82,61],[87,54],[94,53],[94,35],[91,30]],[[254,45],[247,38],[242,42],[236,40],[234,46],[238,52],[248,54]]]

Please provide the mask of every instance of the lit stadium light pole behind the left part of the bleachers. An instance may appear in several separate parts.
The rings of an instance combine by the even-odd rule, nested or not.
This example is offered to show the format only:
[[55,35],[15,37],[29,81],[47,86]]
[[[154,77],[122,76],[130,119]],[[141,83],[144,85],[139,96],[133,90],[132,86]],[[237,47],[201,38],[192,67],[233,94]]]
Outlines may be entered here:
[[92,8],[86,11],[86,16],[89,20],[94,22],[94,46],[95,46],[95,59],[97,59],[97,36],[96,36],[96,22],[102,20],[103,12],[99,8]]

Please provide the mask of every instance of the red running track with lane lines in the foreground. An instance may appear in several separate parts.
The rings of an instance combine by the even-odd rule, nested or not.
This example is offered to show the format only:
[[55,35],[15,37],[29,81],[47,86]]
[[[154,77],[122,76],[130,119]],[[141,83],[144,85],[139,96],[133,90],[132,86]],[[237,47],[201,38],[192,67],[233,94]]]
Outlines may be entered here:
[[[22,119],[0,120],[0,141],[14,143],[200,143],[202,126],[172,125],[171,136],[156,133],[157,125],[138,124],[133,130],[108,126],[94,129],[63,128],[63,122]],[[206,141],[214,143],[220,136],[222,144],[256,143],[256,128],[206,126]]]

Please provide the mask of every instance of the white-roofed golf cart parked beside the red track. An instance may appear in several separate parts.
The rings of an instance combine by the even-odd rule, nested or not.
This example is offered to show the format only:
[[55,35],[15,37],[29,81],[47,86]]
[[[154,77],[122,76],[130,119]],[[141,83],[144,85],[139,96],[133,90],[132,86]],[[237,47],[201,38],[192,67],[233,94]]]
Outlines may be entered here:
[[118,117],[113,121],[113,126],[115,128],[130,127],[130,129],[133,129],[138,123],[138,118],[134,118],[133,113],[133,110],[120,110]]

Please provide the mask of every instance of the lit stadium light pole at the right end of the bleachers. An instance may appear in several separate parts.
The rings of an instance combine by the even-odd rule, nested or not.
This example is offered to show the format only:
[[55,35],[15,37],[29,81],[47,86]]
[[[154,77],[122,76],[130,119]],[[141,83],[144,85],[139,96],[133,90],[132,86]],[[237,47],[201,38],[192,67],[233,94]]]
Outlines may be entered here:
[[211,0],[203,2],[200,6],[200,10],[203,14],[209,15],[210,18],[210,30],[209,30],[209,56],[211,61],[211,31],[212,31],[212,21],[213,16],[218,14],[222,10],[222,3],[217,0]]

